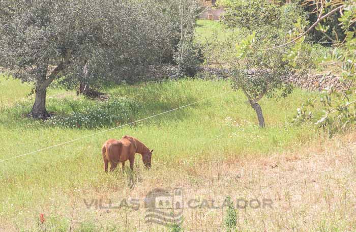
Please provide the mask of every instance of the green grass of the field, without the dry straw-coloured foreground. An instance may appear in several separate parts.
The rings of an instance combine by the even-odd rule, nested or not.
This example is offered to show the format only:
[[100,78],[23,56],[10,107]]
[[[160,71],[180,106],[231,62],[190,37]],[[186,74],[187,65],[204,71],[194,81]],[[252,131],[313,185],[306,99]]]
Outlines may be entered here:
[[[121,188],[125,177],[117,179],[103,173],[100,149],[108,138],[121,138],[129,134],[154,149],[153,168],[150,172],[143,172],[143,175],[153,177],[155,171],[163,167],[171,168],[174,172],[178,171],[177,167],[195,168],[202,160],[252,159],[267,157],[276,152],[296,151],[302,144],[311,143],[319,137],[311,127],[293,127],[289,124],[301,102],[316,96],[315,93],[299,89],[285,99],[261,100],[267,125],[263,130],[258,128],[255,112],[246,103],[244,95],[231,91],[227,81],[184,79],[161,84],[114,86],[103,90],[112,98],[103,103],[73,97],[76,96],[73,92],[50,90],[47,108],[55,111],[57,120],[61,122],[80,120],[76,118],[78,114],[73,112],[101,113],[107,110],[107,104],[111,104],[112,108],[111,111],[105,111],[108,114],[125,113],[120,122],[113,122],[109,117],[100,119],[101,124],[93,122],[95,126],[92,127],[64,127],[22,117],[31,110],[33,103],[33,96],[23,99],[28,91],[27,84],[21,89],[21,84],[16,80],[8,79],[5,82],[3,77],[0,81],[7,84],[6,88],[21,90],[17,97],[11,92],[1,93],[2,99],[11,104],[0,111],[0,159],[36,151],[207,99],[132,126],[0,163],[0,217],[20,227],[34,226],[37,215],[41,213],[38,206],[70,202],[88,191],[115,191]],[[87,108],[90,110],[85,111]],[[80,115],[85,117],[84,114]],[[136,163],[141,166],[140,158],[137,158]],[[21,215],[18,212],[22,212]],[[68,227],[68,223],[62,227]]]

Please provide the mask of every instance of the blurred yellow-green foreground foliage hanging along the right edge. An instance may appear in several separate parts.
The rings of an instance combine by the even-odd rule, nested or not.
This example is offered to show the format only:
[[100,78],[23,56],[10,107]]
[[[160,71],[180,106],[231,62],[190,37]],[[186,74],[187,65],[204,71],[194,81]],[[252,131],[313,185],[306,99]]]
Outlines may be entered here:
[[[307,1],[310,3],[310,1]],[[323,128],[332,137],[336,132],[344,131],[356,124],[356,2],[355,1],[317,1],[312,3],[315,10],[320,15],[328,12],[328,8],[339,8],[341,17],[340,26],[345,39],[338,48],[333,49],[319,59],[319,64],[327,67],[336,66],[342,70],[342,81],[346,83],[346,88],[341,92],[336,92],[334,88],[324,90],[319,98],[309,99],[300,108],[294,119],[296,124],[314,123],[318,128]],[[323,28],[324,21],[319,22],[318,28]],[[321,110],[314,108],[317,101],[323,105]]]

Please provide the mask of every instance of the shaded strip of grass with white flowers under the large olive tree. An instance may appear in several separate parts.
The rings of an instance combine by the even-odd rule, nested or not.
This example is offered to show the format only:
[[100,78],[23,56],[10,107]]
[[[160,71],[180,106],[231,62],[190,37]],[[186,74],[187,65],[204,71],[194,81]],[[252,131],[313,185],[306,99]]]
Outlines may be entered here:
[[[153,99],[155,101],[152,101]],[[153,115],[179,108],[200,99],[193,96],[186,96],[179,101],[167,101],[159,97],[153,97],[152,100],[138,101],[130,97],[116,96],[111,97],[107,101],[51,98],[47,101],[47,108],[48,111],[54,112],[54,115],[46,121],[25,119],[23,115],[31,110],[31,104],[26,102],[3,109],[2,112],[0,112],[3,114],[3,116],[0,117],[0,123],[6,128],[24,126],[49,126],[77,129],[112,128],[152,117]],[[199,107],[199,105],[194,104],[188,107],[196,108]],[[187,120],[191,117],[189,110],[186,110],[188,107],[177,109],[164,115],[157,115],[157,117],[147,120],[151,122],[154,121],[157,124],[162,120],[165,122]],[[131,126],[134,127],[135,124]]]

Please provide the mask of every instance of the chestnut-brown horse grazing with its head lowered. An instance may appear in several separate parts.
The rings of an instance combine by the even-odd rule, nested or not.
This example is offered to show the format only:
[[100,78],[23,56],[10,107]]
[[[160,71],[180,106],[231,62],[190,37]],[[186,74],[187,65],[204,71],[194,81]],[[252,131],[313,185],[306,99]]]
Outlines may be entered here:
[[104,169],[107,171],[110,162],[110,171],[115,170],[118,163],[122,163],[123,171],[125,170],[125,161],[130,160],[130,168],[133,169],[135,154],[142,155],[142,161],[146,168],[151,168],[152,151],[150,151],[137,138],[125,135],[122,139],[109,139],[101,149]]

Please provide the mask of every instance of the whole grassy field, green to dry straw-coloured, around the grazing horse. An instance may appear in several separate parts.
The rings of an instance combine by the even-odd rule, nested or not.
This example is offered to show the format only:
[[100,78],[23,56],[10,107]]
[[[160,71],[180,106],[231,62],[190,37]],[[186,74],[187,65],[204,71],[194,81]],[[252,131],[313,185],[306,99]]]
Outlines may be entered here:
[[[0,77],[0,160],[102,132],[202,100],[194,105],[60,147],[0,163],[0,231],[180,231],[144,223],[145,209],[87,208],[93,199],[119,204],[155,188],[184,190],[184,199],[262,199],[270,208],[238,210],[238,231],[351,231],[356,229],[354,133],[325,139],[312,126],[294,127],[297,107],[315,93],[296,89],[263,99],[266,129],[244,95],[227,81],[184,79],[113,86],[106,102],[50,89],[47,122],[23,117],[31,85]],[[205,99],[205,100],[204,100]],[[134,173],[105,173],[100,149],[129,134],[154,149],[153,167],[139,155]],[[346,150],[345,144],[349,144]],[[350,158],[351,157],[351,158]],[[353,195],[352,195],[353,194]],[[85,200],[85,201],[84,201]],[[230,215],[231,216],[231,215]],[[226,208],[185,207],[186,231],[226,231]]]

